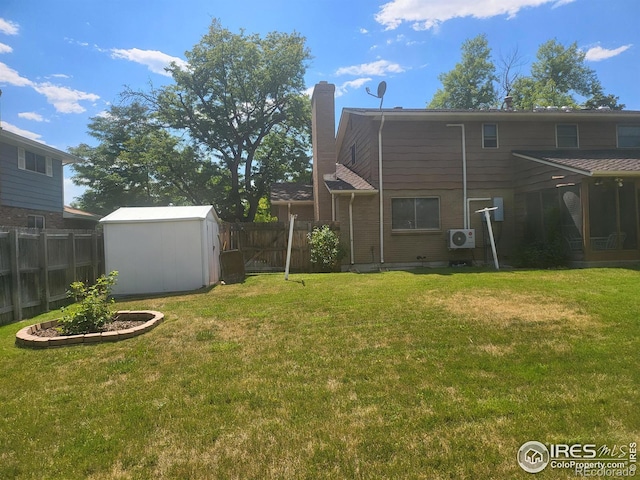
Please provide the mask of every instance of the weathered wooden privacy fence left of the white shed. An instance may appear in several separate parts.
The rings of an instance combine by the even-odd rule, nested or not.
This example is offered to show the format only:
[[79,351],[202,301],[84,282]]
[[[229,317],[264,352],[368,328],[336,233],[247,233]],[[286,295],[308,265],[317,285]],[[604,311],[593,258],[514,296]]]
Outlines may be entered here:
[[59,308],[72,282],[102,273],[98,232],[0,227],[0,324]]

